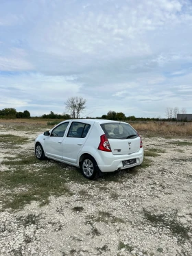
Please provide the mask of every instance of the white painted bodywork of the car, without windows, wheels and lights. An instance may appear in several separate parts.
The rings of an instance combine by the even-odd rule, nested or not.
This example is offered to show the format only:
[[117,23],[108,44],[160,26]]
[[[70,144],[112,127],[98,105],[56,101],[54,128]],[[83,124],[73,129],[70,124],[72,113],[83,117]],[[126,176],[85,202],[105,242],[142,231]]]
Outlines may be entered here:
[[[41,144],[45,156],[48,158],[80,167],[82,155],[89,154],[95,159],[101,172],[115,172],[119,169],[141,165],[143,162],[143,148],[140,148],[140,137],[132,139],[108,139],[112,152],[98,150],[100,137],[104,135],[104,130],[102,130],[100,125],[106,123],[120,124],[123,122],[101,119],[72,119],[62,121],[60,124],[65,122],[69,122],[69,125],[63,137],[39,135],[36,138],[35,143],[38,142]],[[67,137],[69,128],[73,122],[91,125],[86,137]],[[58,126],[49,130],[50,135]],[[123,167],[122,161],[129,159],[136,159],[136,163]]]

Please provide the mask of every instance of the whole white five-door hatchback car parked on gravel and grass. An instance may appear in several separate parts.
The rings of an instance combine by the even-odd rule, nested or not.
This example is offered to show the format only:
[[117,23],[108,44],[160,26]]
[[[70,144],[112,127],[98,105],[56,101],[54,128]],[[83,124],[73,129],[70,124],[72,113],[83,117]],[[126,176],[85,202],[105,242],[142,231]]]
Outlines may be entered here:
[[39,160],[53,159],[80,167],[89,179],[143,162],[141,137],[122,121],[71,119],[62,121],[35,140]]

